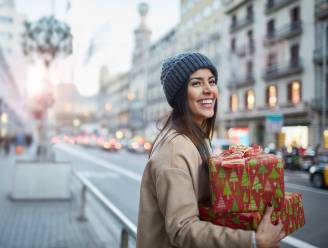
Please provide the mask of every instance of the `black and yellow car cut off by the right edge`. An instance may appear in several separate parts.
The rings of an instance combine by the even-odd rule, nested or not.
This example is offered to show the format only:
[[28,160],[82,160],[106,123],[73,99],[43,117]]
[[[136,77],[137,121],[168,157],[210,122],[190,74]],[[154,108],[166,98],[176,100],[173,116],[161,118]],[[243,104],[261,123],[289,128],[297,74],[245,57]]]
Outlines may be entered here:
[[328,153],[319,153],[313,166],[309,169],[310,182],[316,188],[328,186]]

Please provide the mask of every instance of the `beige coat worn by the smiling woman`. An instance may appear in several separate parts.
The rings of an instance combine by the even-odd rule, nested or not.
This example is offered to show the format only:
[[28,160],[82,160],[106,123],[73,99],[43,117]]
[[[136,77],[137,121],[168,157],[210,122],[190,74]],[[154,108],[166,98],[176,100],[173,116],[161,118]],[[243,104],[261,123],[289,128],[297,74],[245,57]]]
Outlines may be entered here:
[[142,177],[137,248],[250,248],[250,231],[199,220],[198,203],[208,200],[208,173],[198,150],[189,138],[171,131]]

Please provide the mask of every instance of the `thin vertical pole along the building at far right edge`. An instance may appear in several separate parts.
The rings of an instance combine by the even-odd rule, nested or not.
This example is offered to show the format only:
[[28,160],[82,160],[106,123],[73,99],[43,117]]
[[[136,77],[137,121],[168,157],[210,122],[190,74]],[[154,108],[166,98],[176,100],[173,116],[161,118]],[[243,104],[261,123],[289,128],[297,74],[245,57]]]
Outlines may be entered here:
[[326,130],[326,108],[327,108],[327,29],[328,25],[323,24],[323,41],[322,41],[322,51],[323,51],[323,78],[322,78],[322,93],[323,93],[323,101],[322,101],[322,132],[321,139],[323,139],[323,133]]

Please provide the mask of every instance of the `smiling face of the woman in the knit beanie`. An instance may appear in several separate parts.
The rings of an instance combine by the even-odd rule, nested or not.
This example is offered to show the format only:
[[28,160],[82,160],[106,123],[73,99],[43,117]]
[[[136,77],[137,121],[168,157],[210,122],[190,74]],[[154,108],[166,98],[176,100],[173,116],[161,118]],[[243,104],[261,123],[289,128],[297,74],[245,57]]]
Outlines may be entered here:
[[214,115],[214,104],[218,96],[216,78],[209,69],[199,69],[189,77],[188,104],[192,119],[199,126]]

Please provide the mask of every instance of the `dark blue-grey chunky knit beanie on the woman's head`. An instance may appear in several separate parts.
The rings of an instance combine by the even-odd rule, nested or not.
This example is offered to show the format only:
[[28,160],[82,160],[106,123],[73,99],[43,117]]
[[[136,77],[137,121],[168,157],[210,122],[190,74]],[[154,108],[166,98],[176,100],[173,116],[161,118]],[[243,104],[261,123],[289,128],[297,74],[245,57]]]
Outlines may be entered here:
[[184,84],[188,83],[190,75],[201,68],[210,69],[217,80],[218,73],[215,66],[203,54],[196,52],[181,53],[164,61],[161,83],[166,99],[172,108],[174,107],[176,94]]

